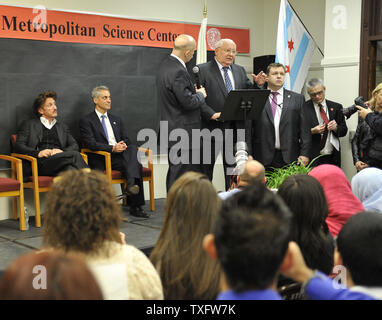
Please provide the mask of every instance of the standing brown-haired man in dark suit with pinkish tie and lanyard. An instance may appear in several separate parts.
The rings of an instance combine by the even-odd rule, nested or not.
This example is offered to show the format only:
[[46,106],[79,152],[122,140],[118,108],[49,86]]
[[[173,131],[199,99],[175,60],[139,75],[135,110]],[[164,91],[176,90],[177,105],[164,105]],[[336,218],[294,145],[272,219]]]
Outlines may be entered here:
[[272,63],[267,68],[271,90],[263,113],[253,124],[253,155],[266,168],[281,168],[293,161],[309,163],[312,141],[304,113],[304,96],[283,88],[285,67]]

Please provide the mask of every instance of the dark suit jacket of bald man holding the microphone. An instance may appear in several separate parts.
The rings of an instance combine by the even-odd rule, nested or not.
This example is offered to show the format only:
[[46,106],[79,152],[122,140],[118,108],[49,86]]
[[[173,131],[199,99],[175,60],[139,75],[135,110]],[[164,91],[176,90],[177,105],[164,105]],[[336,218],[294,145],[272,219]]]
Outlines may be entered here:
[[164,131],[160,121],[167,121],[168,133],[174,129],[184,129],[191,137],[192,129],[200,129],[203,94],[196,93],[187,70],[172,56],[167,56],[162,62],[156,84],[158,136],[160,130]]

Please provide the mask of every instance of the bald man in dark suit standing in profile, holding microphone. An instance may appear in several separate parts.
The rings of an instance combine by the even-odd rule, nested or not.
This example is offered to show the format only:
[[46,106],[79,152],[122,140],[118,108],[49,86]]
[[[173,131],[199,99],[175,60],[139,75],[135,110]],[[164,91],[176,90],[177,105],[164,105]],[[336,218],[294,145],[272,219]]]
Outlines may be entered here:
[[[191,137],[192,129],[200,129],[200,107],[207,95],[204,88],[194,88],[186,69],[195,49],[193,37],[179,35],[171,55],[164,59],[157,74],[157,134],[161,137],[161,148],[163,143],[167,144],[167,191],[183,173],[201,171],[200,143],[193,144]],[[165,142],[162,141],[164,135]],[[196,154],[194,159],[192,154]]]

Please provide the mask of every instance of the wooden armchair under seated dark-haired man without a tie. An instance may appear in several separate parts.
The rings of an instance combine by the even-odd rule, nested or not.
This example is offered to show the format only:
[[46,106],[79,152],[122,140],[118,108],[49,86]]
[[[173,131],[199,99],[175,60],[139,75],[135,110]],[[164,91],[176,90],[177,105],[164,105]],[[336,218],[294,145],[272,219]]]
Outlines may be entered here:
[[[16,143],[17,135],[11,136],[12,149]],[[54,176],[40,176],[38,174],[37,158],[28,156],[21,153],[11,153],[11,156],[24,159],[30,162],[32,169],[32,176],[28,181],[24,182],[24,188],[33,190],[34,208],[35,208],[35,225],[37,228],[41,227],[41,214],[40,214],[40,192],[48,192],[52,188]],[[88,157],[86,154],[81,154],[82,158],[88,163]]]

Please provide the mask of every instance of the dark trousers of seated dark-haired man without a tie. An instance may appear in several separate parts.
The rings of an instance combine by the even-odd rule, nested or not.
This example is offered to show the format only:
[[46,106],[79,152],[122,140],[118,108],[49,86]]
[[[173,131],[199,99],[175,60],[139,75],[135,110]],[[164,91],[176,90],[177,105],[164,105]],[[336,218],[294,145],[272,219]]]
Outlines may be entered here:
[[38,159],[40,176],[56,176],[62,171],[88,168],[78,151],[64,151],[48,158]]

